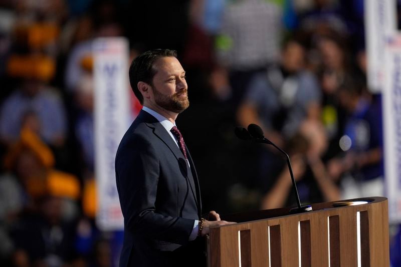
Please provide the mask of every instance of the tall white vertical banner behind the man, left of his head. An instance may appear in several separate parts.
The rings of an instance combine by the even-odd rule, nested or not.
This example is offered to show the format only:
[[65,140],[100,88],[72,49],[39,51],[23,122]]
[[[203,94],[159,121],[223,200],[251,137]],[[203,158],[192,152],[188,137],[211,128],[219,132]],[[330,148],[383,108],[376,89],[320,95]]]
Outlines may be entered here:
[[99,38],[93,43],[95,85],[96,223],[102,230],[123,229],[114,160],[129,127],[128,41]]

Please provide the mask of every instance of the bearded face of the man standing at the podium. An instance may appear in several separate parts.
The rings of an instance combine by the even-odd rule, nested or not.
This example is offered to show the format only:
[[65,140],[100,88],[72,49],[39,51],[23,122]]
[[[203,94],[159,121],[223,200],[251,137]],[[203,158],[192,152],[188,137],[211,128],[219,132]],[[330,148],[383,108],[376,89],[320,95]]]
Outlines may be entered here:
[[185,71],[174,57],[158,59],[152,81],[153,101],[165,110],[181,113],[189,106]]

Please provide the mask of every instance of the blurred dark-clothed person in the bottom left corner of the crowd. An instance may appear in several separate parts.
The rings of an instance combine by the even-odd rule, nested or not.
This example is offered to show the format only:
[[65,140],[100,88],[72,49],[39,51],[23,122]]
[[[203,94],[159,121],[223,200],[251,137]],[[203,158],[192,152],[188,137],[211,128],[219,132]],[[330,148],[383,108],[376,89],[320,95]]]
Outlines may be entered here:
[[39,210],[23,216],[12,231],[15,266],[58,267],[74,259],[74,223],[63,219],[63,199],[45,194],[38,200]]

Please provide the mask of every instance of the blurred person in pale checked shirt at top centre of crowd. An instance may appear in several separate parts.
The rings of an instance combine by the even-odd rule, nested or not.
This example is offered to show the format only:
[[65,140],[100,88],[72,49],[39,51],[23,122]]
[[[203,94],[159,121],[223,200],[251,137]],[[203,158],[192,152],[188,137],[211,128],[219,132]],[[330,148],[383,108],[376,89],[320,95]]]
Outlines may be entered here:
[[281,15],[281,7],[269,1],[240,0],[226,5],[216,54],[218,64],[228,70],[235,106],[253,75],[279,60]]

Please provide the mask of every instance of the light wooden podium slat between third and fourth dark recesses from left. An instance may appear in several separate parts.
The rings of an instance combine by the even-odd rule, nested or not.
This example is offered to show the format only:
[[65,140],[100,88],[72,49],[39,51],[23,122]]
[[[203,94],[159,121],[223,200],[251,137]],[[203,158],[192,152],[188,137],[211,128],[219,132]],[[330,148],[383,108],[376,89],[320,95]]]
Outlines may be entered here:
[[[312,267],[328,267],[328,228],[327,216],[313,216],[310,220],[311,229],[311,265]],[[303,265],[304,266],[304,265]],[[307,265],[305,265],[307,266]]]

